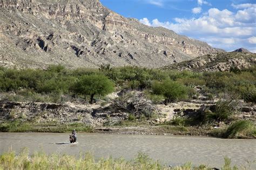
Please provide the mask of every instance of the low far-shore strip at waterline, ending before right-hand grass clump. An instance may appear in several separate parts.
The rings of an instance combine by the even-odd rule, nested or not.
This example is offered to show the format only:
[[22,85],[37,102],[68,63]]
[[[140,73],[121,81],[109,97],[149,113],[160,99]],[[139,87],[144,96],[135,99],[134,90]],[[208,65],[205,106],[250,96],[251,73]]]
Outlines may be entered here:
[[78,133],[105,133],[105,134],[154,134],[154,135],[210,135],[210,130],[195,127],[167,126],[167,125],[141,125],[141,126],[102,126],[91,127],[79,123],[29,123],[14,121],[0,126],[0,132],[48,132],[69,133],[76,129]]

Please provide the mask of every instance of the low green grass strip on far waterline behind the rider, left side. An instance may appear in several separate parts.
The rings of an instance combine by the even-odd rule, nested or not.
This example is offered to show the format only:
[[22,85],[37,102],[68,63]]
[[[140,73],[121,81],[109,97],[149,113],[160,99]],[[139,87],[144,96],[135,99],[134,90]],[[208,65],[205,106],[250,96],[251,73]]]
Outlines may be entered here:
[[53,132],[66,133],[73,129],[77,132],[93,132],[93,128],[80,123],[56,124],[51,123],[31,123],[29,121],[6,121],[0,124],[0,132]]

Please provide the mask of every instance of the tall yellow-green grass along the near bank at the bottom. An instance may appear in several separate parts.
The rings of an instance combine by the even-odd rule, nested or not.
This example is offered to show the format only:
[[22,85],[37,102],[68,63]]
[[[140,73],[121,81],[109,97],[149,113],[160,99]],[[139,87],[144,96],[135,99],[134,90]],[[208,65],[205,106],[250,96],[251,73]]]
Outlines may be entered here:
[[[225,164],[221,169],[238,169],[231,167],[231,160],[224,158]],[[251,165],[242,166],[240,169],[249,169]],[[193,166],[188,162],[182,166],[168,167],[159,161],[149,158],[144,153],[138,153],[136,158],[127,161],[123,158],[102,158],[96,160],[91,153],[80,154],[80,157],[72,155],[47,155],[42,152],[29,156],[27,149],[16,155],[15,152],[7,152],[0,155],[0,169],[212,169],[206,165]]]

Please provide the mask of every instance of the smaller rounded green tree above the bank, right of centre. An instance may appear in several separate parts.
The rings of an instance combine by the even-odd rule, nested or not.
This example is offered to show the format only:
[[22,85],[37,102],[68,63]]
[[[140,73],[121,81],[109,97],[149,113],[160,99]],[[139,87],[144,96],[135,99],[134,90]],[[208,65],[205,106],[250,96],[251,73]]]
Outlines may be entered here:
[[163,82],[154,82],[152,90],[154,94],[163,95],[166,98],[166,105],[170,101],[186,98],[188,94],[186,86],[170,79],[166,79]]

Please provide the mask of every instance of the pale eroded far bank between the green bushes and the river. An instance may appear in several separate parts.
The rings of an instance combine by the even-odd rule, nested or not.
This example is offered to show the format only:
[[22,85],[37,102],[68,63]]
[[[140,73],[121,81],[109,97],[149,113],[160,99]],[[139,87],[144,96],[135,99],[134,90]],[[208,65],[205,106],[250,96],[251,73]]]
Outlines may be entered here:
[[[130,92],[132,93],[132,92]],[[142,92],[133,92],[133,97]],[[255,139],[256,128],[254,106],[246,104],[227,121],[204,122],[204,115],[214,110],[217,103],[212,101],[179,101],[168,106],[151,104],[144,98],[139,101],[122,99],[99,100],[96,104],[66,102],[63,104],[16,102],[0,100],[0,132],[54,132],[70,133],[74,128],[78,133],[116,134],[156,134],[156,135],[199,135],[218,138]],[[131,97],[131,98],[133,98]],[[117,99],[116,99],[117,98]],[[134,104],[133,104],[134,103]],[[151,117],[135,117],[129,113],[130,105],[139,110],[140,103],[150,107]],[[118,106],[117,106],[118,105]],[[253,104],[252,104],[253,105]],[[124,108],[127,107],[127,110]],[[209,111],[206,111],[209,110]],[[225,111],[225,110],[224,110]],[[236,126],[233,124],[237,123]],[[227,131],[232,127],[230,131]]]

